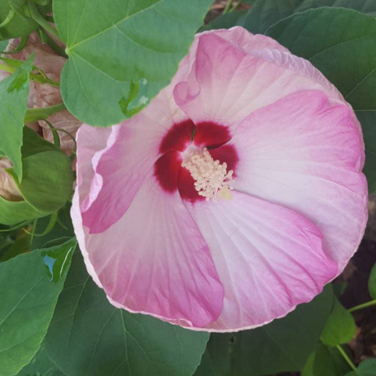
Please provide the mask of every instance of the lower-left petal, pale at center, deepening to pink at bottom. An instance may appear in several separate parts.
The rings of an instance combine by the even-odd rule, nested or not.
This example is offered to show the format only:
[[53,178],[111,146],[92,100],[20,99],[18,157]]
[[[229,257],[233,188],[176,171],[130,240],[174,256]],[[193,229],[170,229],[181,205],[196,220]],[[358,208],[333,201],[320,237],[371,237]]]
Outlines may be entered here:
[[125,215],[101,234],[82,226],[78,207],[77,190],[77,239],[89,273],[114,305],[186,326],[217,319],[223,287],[177,191],[165,194],[150,172]]

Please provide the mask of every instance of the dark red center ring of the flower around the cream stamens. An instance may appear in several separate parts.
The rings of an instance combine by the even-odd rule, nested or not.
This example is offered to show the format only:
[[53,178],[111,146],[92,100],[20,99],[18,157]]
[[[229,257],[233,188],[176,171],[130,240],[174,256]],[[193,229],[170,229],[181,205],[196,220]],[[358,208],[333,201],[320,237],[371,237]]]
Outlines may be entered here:
[[195,202],[205,200],[195,188],[191,172],[181,166],[182,154],[189,147],[208,148],[214,160],[227,163],[227,170],[233,170],[238,162],[238,154],[233,145],[226,145],[231,139],[227,126],[213,122],[195,124],[184,120],[174,124],[163,137],[159,151],[163,154],[154,164],[154,174],[161,188],[167,193],[178,190],[184,200]]

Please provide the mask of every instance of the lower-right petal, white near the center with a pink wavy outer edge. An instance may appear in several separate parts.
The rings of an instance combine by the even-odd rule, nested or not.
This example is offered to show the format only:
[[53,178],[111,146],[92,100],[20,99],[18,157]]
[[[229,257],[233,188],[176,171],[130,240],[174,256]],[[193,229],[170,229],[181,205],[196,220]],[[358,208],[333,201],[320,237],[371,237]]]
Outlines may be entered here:
[[221,315],[208,330],[253,328],[285,316],[321,292],[337,271],[322,250],[320,232],[289,209],[240,192],[231,201],[186,206],[225,289]]

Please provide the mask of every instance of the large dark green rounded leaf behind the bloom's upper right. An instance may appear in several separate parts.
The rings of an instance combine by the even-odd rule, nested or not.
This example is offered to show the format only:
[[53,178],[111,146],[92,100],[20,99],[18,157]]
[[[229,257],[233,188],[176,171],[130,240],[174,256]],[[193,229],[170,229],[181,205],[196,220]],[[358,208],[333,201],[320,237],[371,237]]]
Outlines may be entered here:
[[376,20],[348,9],[299,13],[268,29],[293,54],[308,59],[348,101],[362,125],[364,173],[376,190]]

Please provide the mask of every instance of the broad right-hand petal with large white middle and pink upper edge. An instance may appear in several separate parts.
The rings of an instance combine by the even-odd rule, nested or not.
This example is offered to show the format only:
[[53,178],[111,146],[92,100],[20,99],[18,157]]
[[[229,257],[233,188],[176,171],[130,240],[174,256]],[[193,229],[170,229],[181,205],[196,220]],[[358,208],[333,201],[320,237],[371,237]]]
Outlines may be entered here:
[[364,147],[352,116],[322,92],[301,91],[251,114],[230,141],[239,155],[235,189],[312,221],[338,274],[367,221]]

